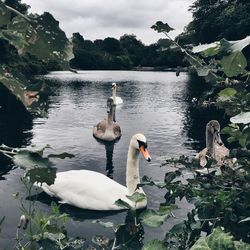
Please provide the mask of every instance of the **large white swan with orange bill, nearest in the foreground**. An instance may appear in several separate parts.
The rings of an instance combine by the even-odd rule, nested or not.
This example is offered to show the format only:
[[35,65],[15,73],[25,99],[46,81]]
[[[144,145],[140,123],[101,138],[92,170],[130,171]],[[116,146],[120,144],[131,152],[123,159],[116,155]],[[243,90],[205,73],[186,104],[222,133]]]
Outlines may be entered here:
[[126,195],[132,195],[135,191],[144,193],[142,188],[137,189],[140,183],[139,153],[142,153],[147,161],[151,161],[147,151],[147,142],[143,134],[135,134],[130,141],[126,186],[108,178],[106,175],[90,170],[70,170],[57,173],[53,185],[42,183],[42,189],[50,196],[61,199],[75,207],[91,210],[121,210],[115,205],[115,201],[122,199],[136,209],[147,205],[146,199],[136,204],[130,201]]

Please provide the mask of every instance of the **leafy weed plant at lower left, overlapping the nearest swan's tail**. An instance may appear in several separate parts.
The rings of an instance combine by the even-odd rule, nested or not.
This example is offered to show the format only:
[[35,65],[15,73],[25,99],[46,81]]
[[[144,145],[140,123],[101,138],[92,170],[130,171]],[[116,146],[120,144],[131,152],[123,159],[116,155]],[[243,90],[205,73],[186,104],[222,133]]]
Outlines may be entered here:
[[[49,169],[50,167],[48,167]],[[33,171],[39,170],[39,171]],[[41,170],[41,171],[40,171]],[[28,203],[19,195],[20,211],[22,216],[16,233],[16,249],[81,249],[85,243],[83,238],[71,238],[68,236],[65,225],[67,214],[61,214],[55,202],[51,203],[50,214],[41,212],[36,207],[36,199],[31,198],[34,183],[54,183],[56,175],[46,172],[46,168],[32,168],[26,170],[22,183],[28,191]],[[36,196],[36,195],[35,195]]]

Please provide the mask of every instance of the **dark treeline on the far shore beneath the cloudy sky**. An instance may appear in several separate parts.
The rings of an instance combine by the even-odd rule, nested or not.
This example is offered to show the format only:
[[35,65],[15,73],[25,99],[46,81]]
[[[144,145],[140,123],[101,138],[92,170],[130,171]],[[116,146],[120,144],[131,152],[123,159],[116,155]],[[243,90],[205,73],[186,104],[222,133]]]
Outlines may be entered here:
[[[163,49],[164,48],[164,49]],[[72,68],[77,69],[132,69],[134,67],[185,66],[183,53],[173,50],[166,39],[144,45],[135,35],[123,35],[120,39],[85,40],[81,34],[73,34]]]

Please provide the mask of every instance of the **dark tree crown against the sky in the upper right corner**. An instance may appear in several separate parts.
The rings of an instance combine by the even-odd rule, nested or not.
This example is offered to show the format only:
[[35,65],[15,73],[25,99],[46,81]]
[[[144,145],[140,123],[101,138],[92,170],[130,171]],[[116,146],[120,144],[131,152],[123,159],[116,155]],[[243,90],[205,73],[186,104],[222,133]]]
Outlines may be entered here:
[[239,40],[250,34],[249,0],[197,0],[189,11],[193,20],[177,37],[182,45]]

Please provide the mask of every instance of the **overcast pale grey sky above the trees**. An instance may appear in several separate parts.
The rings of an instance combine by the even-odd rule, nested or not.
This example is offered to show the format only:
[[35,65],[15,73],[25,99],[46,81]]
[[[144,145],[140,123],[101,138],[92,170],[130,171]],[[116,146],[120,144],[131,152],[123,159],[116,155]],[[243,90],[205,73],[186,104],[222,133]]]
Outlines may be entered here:
[[31,6],[29,12],[50,12],[59,22],[67,37],[79,32],[84,39],[106,37],[119,39],[124,34],[135,34],[144,44],[152,44],[163,34],[150,27],[157,21],[167,22],[180,34],[192,20],[188,11],[194,0],[22,0]]

